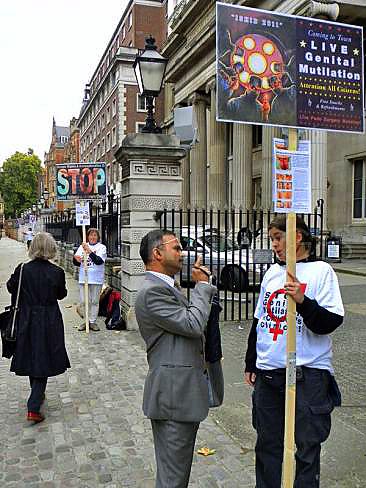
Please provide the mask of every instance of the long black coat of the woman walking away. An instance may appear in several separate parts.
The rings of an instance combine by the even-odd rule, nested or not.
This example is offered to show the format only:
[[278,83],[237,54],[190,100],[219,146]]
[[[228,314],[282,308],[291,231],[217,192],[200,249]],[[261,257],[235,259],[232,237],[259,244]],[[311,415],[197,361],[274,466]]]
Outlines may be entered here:
[[[12,303],[18,289],[20,265],[6,286]],[[23,267],[16,349],[10,371],[21,376],[48,377],[70,367],[64,324],[57,300],[67,295],[63,269],[43,259]]]

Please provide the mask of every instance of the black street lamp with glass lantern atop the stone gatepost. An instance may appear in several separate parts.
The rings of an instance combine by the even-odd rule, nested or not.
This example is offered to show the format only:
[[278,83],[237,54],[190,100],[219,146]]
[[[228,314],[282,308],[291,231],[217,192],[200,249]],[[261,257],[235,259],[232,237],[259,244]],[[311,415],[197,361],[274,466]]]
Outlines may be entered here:
[[161,91],[168,60],[157,51],[155,39],[146,39],[145,50],[136,56],[133,63],[140,94],[146,98],[147,117],[141,132],[161,133],[154,120],[154,98]]

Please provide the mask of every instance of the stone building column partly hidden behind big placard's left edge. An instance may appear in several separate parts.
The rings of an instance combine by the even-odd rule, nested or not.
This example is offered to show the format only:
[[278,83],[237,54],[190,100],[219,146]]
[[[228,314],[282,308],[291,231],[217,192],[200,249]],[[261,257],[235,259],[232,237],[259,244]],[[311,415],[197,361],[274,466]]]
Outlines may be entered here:
[[208,206],[223,210],[226,197],[226,124],[216,121],[216,87],[208,86],[211,93],[210,134],[208,148]]

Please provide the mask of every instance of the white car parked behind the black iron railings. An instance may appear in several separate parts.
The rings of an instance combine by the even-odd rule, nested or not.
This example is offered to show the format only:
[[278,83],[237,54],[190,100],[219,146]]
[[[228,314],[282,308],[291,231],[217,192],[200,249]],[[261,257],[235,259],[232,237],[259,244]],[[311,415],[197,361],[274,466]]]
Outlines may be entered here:
[[[255,282],[259,284],[260,266],[253,263],[253,250],[249,244],[240,247],[236,240],[219,233],[217,229],[201,226],[183,227],[180,235],[183,247],[181,283],[189,286],[192,265],[198,255],[202,263],[216,276],[219,289],[243,293]],[[257,279],[258,278],[258,279]]]

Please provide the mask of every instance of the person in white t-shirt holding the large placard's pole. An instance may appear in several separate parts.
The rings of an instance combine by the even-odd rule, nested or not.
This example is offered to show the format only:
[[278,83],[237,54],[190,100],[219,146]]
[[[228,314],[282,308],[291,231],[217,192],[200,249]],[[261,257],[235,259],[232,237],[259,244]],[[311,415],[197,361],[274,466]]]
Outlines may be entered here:
[[294,488],[318,488],[320,449],[331,412],[341,402],[329,336],[343,322],[337,276],[312,257],[313,238],[296,220],[296,276],[286,280],[286,215],[269,227],[277,263],[264,275],[245,356],[245,382],[254,386],[256,487],[280,488],[286,390],[287,295],[296,302],[296,479]]

